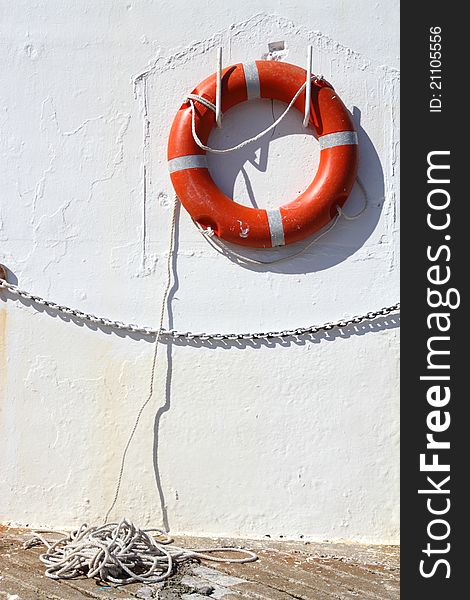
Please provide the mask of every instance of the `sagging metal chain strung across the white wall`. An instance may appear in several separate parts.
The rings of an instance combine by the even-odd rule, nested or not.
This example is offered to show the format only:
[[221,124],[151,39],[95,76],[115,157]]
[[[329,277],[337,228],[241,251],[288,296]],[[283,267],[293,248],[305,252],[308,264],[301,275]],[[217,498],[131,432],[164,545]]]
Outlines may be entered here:
[[[24,298],[29,302],[38,304],[50,308],[64,315],[80,319],[81,321],[87,321],[94,325],[102,327],[110,327],[111,329],[118,329],[120,331],[127,331],[129,333],[138,333],[141,335],[155,336],[159,333],[158,329],[152,329],[151,327],[140,327],[133,323],[122,323],[121,321],[113,321],[104,317],[97,317],[90,313],[82,312],[81,310],[69,308],[61,304],[56,304],[50,300],[45,300],[40,296],[34,296],[29,292],[21,290],[16,285],[8,283],[4,279],[0,279],[0,289],[8,290],[14,296]],[[391,313],[400,310],[400,303],[397,302],[392,306],[386,306],[379,310],[370,311],[364,315],[357,317],[350,317],[340,319],[339,321],[332,323],[324,323],[323,325],[311,325],[309,327],[298,327],[296,329],[284,329],[282,331],[268,331],[268,332],[255,332],[255,333],[192,333],[190,331],[182,332],[174,329],[162,329],[160,334],[164,338],[171,338],[174,340],[185,339],[185,340],[200,340],[200,341],[237,341],[237,340],[261,340],[261,339],[272,339],[272,338],[288,338],[288,337],[299,337],[305,335],[311,335],[320,333],[321,331],[330,331],[331,329],[342,329],[348,325],[357,325],[363,321],[372,321],[377,317],[385,317]]]

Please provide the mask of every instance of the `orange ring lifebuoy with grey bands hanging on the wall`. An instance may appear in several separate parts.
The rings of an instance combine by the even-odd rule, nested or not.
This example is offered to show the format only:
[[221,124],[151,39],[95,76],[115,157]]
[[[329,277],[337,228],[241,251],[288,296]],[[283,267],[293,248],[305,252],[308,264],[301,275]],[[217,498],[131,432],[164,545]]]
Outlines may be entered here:
[[[304,69],[283,62],[260,60],[228,67],[222,72],[222,112],[254,98],[289,103],[305,78]],[[216,75],[200,83],[193,94],[215,103]],[[305,91],[294,106],[304,112]],[[320,143],[318,171],[298,198],[276,210],[243,206],[221,192],[210,176],[206,152],[194,141],[192,110],[203,144],[215,125],[209,107],[182,104],[168,141],[171,181],[191,217],[223,240],[255,248],[291,244],[324,227],[337,214],[337,205],[346,202],[357,174],[357,134],[350,113],[326,81],[315,78],[311,88],[310,125]]]

